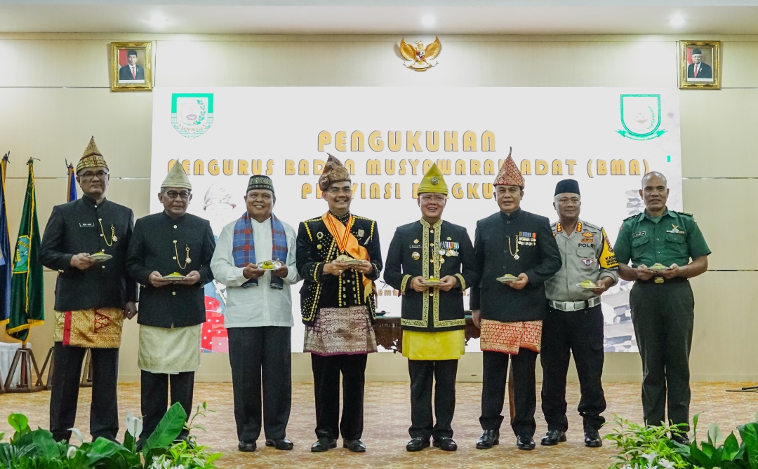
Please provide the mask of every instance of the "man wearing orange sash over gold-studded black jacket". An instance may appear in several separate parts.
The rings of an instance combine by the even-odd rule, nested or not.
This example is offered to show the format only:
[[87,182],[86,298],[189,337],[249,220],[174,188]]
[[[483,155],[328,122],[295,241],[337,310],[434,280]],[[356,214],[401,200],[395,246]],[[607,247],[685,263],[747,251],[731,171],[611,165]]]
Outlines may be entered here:
[[[366,358],[376,352],[374,280],[382,269],[374,220],[350,213],[352,183],[346,168],[329,155],[318,180],[329,211],[300,223],[297,270],[305,352],[311,352],[316,400],[312,452],[343,447],[364,452],[363,387]],[[343,411],[340,423],[340,373]]]

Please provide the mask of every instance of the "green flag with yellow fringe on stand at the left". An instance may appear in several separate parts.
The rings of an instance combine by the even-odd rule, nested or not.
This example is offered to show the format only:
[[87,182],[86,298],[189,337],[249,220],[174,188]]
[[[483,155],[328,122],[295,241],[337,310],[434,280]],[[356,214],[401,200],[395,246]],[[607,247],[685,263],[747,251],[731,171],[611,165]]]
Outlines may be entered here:
[[29,160],[27,195],[23,199],[21,226],[16,240],[11,275],[11,318],[5,333],[26,343],[30,327],[45,321],[42,264],[39,263],[39,223],[34,192],[34,162]]

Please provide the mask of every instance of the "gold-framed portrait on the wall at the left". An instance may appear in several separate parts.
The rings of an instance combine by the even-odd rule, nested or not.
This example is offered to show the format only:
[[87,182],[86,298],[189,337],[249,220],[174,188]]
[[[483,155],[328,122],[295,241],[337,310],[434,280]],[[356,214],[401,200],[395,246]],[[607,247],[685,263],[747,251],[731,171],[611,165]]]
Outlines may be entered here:
[[111,91],[151,90],[152,42],[111,42]]

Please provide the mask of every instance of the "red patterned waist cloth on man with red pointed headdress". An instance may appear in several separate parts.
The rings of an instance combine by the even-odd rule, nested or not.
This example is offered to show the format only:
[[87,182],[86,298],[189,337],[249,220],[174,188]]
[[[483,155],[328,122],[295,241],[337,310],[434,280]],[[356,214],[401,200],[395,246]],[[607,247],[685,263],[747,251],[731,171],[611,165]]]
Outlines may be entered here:
[[482,352],[502,352],[518,355],[518,349],[540,353],[542,347],[542,321],[529,320],[518,323],[501,323],[496,320],[481,320],[479,348]]

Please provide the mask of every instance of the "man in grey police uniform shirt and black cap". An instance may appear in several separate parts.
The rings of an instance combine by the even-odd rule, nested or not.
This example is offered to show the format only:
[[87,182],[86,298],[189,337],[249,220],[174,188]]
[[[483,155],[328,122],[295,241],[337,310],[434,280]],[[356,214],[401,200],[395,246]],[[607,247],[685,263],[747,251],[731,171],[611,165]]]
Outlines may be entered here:
[[[606,419],[603,394],[603,310],[600,295],[618,279],[606,230],[579,219],[581,195],[572,179],[556,185],[553,208],[558,221],[552,225],[563,264],[545,282],[548,310],[542,323],[542,412],[547,421],[543,446],[566,440],[566,373],[574,354],[581,386],[578,411],[584,419],[584,446],[603,445],[598,429]],[[578,284],[589,280],[591,286]]]

